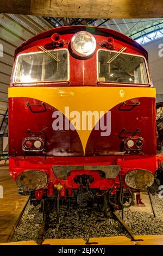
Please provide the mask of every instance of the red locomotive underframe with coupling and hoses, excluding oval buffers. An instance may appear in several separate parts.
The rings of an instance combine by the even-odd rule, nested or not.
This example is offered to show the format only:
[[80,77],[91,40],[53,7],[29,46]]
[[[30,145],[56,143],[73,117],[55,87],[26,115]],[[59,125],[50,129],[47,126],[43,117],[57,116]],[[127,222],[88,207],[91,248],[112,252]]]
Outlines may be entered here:
[[[133,204],[134,193],[140,191],[127,186],[124,181],[126,173],[136,168],[148,170],[150,167],[154,174],[155,169],[160,168],[162,161],[162,155],[141,156],[141,158],[140,156],[10,157],[9,164],[10,174],[15,180],[19,174],[24,174],[28,170],[40,170],[40,173],[46,173],[46,186],[43,188],[19,190],[20,194],[29,194],[34,205],[41,200],[57,200],[59,197],[59,200],[64,202],[77,203],[81,207],[91,205],[96,208],[101,202],[104,203],[106,198],[110,209],[121,209],[126,202],[128,202],[127,206],[131,205],[131,202]],[[55,162],[60,165],[55,166]],[[62,166],[63,162],[65,166]],[[92,162],[96,165],[92,165]],[[61,169],[63,171],[58,172]],[[141,200],[139,203],[141,204]]]

